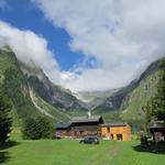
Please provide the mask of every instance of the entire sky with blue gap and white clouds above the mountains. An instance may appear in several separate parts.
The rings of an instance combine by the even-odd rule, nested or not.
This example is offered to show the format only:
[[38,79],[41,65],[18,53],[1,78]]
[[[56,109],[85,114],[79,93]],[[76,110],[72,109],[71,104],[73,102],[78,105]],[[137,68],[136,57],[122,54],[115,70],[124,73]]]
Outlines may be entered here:
[[0,46],[74,91],[127,86],[165,54],[164,0],[0,0]]

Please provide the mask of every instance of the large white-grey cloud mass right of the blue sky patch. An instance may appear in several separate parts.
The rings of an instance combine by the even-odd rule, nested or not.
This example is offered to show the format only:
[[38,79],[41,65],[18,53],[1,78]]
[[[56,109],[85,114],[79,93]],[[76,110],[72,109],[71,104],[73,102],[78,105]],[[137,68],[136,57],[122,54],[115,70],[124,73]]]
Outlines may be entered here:
[[[72,36],[73,51],[100,65],[63,85],[103,90],[127,85],[165,53],[164,0],[32,0],[55,26]],[[68,78],[67,78],[68,79]]]

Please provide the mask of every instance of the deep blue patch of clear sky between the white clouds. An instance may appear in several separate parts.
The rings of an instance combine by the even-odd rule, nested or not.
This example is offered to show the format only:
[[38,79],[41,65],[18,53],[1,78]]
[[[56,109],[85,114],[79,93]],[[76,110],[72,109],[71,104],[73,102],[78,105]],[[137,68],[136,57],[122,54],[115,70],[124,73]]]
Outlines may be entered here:
[[69,70],[82,61],[80,52],[72,52],[68,42],[70,36],[64,29],[54,28],[44,19],[30,0],[7,0],[7,7],[0,9],[0,19],[21,30],[31,30],[48,41],[48,48],[54,52],[62,70]]

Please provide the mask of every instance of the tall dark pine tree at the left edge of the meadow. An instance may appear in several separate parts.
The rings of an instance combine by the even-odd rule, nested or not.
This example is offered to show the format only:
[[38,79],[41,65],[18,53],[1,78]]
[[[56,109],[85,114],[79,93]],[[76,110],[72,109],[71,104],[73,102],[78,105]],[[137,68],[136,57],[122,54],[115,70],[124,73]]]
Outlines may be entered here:
[[9,139],[11,131],[11,118],[9,117],[11,111],[11,102],[7,96],[0,89],[0,145]]

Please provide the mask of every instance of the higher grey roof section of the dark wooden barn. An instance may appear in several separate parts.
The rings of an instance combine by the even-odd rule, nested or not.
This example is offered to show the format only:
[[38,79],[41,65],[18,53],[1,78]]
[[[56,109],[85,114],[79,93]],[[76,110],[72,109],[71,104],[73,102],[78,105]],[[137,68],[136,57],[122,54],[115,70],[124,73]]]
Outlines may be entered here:
[[103,122],[102,117],[100,116],[91,116],[91,117],[75,117],[72,119],[72,123],[78,123],[78,122],[100,122],[100,120]]

